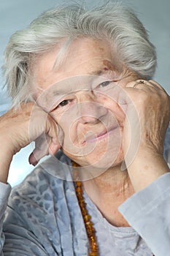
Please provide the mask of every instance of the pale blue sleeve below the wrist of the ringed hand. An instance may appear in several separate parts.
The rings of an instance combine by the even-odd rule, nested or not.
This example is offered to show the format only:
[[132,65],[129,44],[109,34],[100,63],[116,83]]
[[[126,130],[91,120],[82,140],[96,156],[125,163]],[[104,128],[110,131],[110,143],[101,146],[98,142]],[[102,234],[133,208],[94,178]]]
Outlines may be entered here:
[[170,252],[170,173],[159,177],[119,207],[155,256]]

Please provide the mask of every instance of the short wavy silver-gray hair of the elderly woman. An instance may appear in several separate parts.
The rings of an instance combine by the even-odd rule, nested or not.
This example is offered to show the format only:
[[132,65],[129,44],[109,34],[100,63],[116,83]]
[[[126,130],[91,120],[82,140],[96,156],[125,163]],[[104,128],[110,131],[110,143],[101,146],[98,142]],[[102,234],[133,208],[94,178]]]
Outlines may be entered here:
[[[143,79],[154,75],[155,48],[132,10],[112,1],[91,10],[78,4],[63,5],[42,13],[9,39],[3,69],[13,105],[31,100],[29,72],[37,54],[51,50],[63,38],[68,38],[70,43],[79,36],[111,42],[125,67]],[[61,48],[60,58],[63,53]]]

